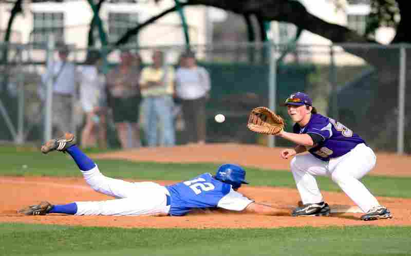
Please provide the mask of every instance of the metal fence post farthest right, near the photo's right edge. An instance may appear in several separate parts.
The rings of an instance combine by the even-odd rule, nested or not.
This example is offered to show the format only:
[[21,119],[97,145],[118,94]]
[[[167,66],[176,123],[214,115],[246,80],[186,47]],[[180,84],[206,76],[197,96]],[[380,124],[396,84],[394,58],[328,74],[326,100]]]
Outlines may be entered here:
[[404,154],[404,119],[405,119],[405,72],[406,52],[403,45],[400,46],[400,77],[398,84],[398,134],[397,154]]

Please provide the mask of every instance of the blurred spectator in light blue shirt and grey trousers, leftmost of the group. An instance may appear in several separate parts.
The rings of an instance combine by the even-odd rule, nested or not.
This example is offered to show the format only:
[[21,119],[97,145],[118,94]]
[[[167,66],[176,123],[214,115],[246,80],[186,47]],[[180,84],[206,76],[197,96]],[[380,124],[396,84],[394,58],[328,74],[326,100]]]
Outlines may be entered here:
[[64,132],[73,132],[72,104],[76,92],[76,66],[67,60],[67,46],[58,48],[59,60],[53,61],[53,66],[47,68],[42,75],[41,98],[45,100],[46,84],[49,78],[53,80],[53,137],[61,136]]

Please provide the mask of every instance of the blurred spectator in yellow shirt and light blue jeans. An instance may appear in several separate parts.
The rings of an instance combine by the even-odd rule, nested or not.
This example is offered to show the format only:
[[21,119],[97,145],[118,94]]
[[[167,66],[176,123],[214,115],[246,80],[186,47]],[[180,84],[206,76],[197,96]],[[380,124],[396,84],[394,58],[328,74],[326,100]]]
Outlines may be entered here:
[[140,78],[143,130],[148,146],[173,146],[174,68],[166,65],[163,52],[154,51],[152,57],[153,65],[145,67]]

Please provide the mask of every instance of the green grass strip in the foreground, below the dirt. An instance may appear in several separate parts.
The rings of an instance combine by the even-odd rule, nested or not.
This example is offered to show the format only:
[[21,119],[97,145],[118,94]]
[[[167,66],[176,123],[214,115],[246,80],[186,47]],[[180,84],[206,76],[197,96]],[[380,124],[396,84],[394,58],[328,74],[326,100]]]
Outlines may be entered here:
[[0,255],[409,255],[410,237],[411,227],[123,229],[8,223],[0,224]]

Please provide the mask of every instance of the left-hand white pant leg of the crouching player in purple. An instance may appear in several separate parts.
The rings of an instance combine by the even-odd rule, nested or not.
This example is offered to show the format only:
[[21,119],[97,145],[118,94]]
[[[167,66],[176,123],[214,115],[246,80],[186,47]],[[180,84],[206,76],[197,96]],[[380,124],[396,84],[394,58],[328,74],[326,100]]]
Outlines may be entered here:
[[327,175],[326,162],[311,154],[297,155],[291,160],[291,172],[303,204],[324,201],[314,176]]

